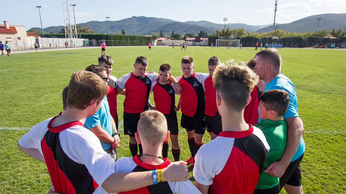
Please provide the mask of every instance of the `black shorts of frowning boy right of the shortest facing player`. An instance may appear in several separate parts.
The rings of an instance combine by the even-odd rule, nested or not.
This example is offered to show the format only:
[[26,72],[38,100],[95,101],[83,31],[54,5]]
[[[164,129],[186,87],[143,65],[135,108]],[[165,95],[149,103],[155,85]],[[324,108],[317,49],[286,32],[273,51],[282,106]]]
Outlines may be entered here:
[[181,114],[180,126],[187,132],[194,130],[195,134],[204,134],[206,131],[206,120],[203,116],[190,117]]

